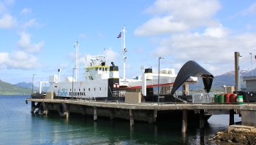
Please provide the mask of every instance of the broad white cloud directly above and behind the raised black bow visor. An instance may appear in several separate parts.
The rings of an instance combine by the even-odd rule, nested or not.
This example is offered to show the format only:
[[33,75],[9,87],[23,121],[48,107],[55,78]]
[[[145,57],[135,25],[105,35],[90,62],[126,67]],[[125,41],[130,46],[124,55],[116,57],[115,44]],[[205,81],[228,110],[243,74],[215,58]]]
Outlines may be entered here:
[[[225,71],[233,70],[234,52],[241,52],[241,55],[244,54],[241,59],[247,59],[249,52],[256,51],[255,37],[256,34],[228,36],[222,27],[206,28],[201,34],[198,32],[175,34],[162,39],[153,54],[155,56],[171,56],[171,63],[174,67],[180,66],[176,63],[195,60],[205,66],[208,71],[222,74]],[[248,64],[241,62],[241,66],[243,65],[246,67]]]

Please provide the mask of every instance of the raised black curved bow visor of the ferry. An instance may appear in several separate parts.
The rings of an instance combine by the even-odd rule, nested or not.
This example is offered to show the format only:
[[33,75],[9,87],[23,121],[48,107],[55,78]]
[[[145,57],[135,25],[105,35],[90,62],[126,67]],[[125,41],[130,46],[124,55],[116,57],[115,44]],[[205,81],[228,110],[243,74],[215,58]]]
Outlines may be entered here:
[[207,93],[210,92],[214,76],[194,60],[189,60],[184,64],[184,66],[181,67],[180,71],[178,71],[178,75],[173,84],[173,89],[170,93],[173,95],[176,90],[178,90],[178,87],[181,87],[181,85],[186,82],[189,77],[202,77],[203,85],[205,87],[204,89]]

